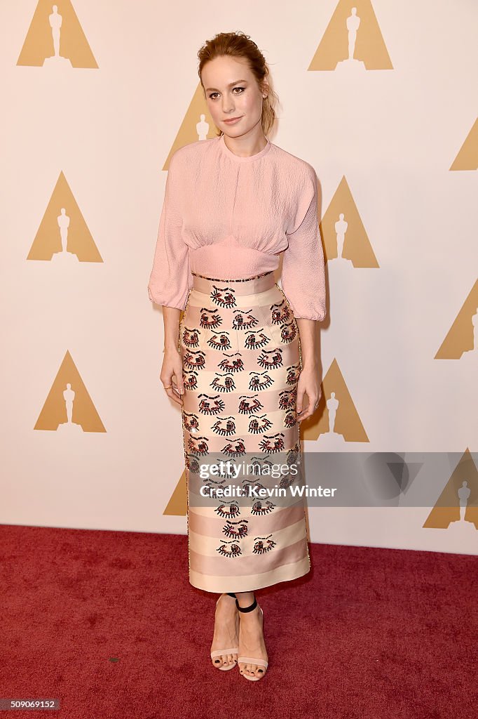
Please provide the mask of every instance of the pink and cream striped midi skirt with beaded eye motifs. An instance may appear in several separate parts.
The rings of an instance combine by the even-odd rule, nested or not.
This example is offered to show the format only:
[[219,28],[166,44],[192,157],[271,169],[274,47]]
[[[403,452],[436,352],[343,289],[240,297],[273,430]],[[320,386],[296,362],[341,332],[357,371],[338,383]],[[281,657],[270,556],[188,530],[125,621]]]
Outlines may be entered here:
[[289,491],[301,482],[299,327],[273,272],[192,275],[178,345],[189,582],[248,592],[310,569],[305,500]]

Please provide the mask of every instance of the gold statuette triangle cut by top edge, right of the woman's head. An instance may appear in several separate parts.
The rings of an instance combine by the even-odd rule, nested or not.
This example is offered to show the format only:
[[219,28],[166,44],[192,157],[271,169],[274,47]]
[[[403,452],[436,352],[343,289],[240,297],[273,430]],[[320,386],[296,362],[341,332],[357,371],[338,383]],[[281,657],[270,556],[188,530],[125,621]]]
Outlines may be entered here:
[[370,0],[337,3],[307,69],[337,70],[347,64],[362,65],[365,70],[393,70]]

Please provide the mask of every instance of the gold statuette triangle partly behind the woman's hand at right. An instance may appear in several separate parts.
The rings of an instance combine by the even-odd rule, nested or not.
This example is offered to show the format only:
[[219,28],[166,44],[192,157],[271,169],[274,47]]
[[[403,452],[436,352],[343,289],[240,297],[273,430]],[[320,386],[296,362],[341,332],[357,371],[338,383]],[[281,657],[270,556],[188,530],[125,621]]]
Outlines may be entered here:
[[317,440],[321,434],[329,432],[329,416],[332,415],[332,408],[330,412],[327,411],[326,401],[328,400],[332,400],[332,404],[338,403],[333,427],[334,434],[342,435],[347,442],[369,441],[345,379],[339,370],[337,359],[333,360],[322,380],[322,396],[317,411],[301,422],[304,439]]

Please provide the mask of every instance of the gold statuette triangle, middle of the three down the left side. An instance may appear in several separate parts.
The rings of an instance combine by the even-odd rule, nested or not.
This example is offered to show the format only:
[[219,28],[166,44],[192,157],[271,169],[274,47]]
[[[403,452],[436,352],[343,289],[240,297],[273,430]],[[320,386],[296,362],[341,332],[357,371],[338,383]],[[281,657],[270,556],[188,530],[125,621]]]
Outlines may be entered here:
[[[62,244],[63,243],[63,244]],[[65,245],[65,249],[63,246]],[[71,253],[80,262],[103,262],[65,175],[61,172],[27,260],[51,260]]]

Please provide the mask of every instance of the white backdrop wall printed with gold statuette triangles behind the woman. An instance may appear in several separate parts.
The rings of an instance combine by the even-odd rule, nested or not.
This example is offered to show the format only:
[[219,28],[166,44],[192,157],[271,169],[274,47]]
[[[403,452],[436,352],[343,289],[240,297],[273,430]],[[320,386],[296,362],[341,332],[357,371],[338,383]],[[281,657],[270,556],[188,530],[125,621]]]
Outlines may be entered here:
[[461,518],[449,467],[428,507],[309,508],[310,539],[476,554],[478,4],[56,5],[51,20],[50,1],[0,6],[0,521],[186,532],[181,415],[146,285],[167,162],[205,111],[197,50],[242,30],[281,99],[271,142],[321,189],[323,400],[304,452],[467,460]]

